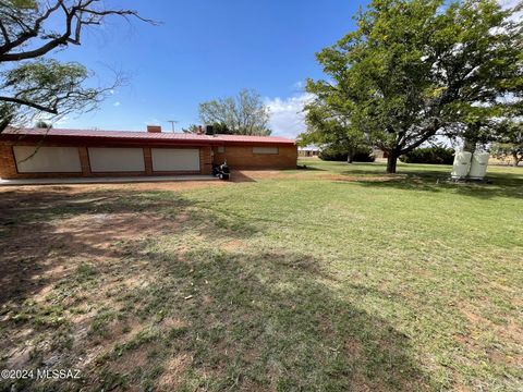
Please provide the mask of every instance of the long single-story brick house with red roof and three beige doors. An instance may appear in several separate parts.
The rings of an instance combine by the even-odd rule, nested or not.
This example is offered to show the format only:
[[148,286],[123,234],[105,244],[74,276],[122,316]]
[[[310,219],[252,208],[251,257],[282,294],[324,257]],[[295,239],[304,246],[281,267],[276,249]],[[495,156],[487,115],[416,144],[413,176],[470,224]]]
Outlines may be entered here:
[[0,177],[210,174],[231,169],[294,169],[294,140],[278,136],[206,135],[59,128],[0,134]]

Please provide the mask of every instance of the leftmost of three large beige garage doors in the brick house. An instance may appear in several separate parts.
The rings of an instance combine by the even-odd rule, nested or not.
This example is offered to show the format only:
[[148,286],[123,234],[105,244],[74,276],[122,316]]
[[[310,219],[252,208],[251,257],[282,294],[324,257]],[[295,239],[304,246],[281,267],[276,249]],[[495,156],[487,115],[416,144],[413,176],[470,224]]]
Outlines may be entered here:
[[19,173],[82,172],[76,147],[14,146],[13,151]]

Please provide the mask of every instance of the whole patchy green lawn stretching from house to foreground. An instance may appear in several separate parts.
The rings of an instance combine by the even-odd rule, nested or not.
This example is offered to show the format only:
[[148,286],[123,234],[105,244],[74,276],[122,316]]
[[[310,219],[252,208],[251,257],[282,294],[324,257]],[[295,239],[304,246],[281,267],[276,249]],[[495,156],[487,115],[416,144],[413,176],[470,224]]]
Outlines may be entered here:
[[0,193],[0,368],[82,370],[17,382],[42,391],[523,390],[523,169],[301,163]]

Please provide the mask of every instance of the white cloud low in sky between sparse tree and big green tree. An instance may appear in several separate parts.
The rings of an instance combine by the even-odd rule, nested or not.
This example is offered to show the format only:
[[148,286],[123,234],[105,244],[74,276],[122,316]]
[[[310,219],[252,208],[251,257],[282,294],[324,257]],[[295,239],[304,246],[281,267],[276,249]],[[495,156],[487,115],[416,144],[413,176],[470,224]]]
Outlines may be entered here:
[[305,113],[303,106],[313,98],[312,94],[303,93],[289,98],[267,98],[270,110],[269,127],[272,135],[295,138],[305,131]]

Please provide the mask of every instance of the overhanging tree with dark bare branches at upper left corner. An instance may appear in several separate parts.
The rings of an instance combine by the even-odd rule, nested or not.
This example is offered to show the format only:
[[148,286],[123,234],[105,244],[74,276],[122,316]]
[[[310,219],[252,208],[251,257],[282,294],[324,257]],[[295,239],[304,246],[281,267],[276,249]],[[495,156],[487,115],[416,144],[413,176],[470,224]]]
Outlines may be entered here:
[[90,73],[75,62],[61,63],[45,56],[81,45],[86,28],[106,17],[135,17],[136,11],[108,9],[102,0],[0,1],[0,132],[12,122],[48,114],[89,111],[114,87],[88,86]]

